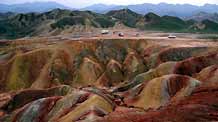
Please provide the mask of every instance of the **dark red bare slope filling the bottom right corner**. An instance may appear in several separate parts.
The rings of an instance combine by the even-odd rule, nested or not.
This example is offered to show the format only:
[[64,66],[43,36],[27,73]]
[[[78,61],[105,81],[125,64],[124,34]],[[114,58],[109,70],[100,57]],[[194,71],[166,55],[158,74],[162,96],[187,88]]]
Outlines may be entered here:
[[218,121],[218,87],[200,87],[192,95],[159,110],[141,111],[132,108],[116,109],[99,122],[210,122]]

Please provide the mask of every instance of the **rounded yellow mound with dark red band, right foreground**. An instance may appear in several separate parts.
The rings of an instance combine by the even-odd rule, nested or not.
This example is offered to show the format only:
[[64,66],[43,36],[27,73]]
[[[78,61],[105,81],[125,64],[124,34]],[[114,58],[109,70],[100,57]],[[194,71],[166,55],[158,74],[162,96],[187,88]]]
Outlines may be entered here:
[[[192,91],[200,85],[200,81],[182,75],[165,75],[142,84],[140,93],[125,98],[128,106],[144,109],[158,109],[165,106],[170,100],[176,101],[191,95]],[[132,97],[133,96],[133,97]]]

